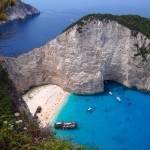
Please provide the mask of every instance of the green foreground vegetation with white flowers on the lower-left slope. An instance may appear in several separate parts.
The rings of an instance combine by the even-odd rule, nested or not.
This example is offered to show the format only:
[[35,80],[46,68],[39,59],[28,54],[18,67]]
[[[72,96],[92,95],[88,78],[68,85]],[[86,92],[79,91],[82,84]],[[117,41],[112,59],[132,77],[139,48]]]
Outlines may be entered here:
[[41,131],[34,119],[14,113],[9,92],[11,81],[0,65],[0,148],[3,150],[86,150],[64,140],[56,139],[49,131]]

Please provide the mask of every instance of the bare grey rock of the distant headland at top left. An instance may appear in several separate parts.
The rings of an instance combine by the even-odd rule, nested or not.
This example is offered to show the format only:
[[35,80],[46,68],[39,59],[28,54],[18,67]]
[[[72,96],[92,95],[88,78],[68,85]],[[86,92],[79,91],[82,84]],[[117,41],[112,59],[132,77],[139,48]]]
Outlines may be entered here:
[[6,10],[8,21],[24,19],[27,16],[36,15],[39,13],[40,12],[36,8],[23,3],[21,0],[16,0],[16,5]]

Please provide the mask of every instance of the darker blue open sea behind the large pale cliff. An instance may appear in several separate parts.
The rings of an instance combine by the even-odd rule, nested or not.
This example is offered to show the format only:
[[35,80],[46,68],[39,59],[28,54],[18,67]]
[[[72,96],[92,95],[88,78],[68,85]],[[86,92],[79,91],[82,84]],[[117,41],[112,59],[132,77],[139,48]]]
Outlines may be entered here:
[[17,56],[40,47],[89,13],[138,14],[150,17],[149,0],[23,0],[41,14],[0,26],[0,55]]

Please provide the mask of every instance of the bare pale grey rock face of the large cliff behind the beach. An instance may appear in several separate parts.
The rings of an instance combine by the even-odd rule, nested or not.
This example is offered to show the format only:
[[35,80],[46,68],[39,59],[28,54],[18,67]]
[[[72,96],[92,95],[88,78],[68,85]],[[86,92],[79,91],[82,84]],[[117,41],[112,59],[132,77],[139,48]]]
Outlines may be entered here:
[[104,80],[150,91],[150,55],[136,55],[150,45],[143,34],[116,21],[93,20],[78,25],[41,48],[17,58],[4,58],[3,66],[18,91],[56,84],[77,94],[104,90]]

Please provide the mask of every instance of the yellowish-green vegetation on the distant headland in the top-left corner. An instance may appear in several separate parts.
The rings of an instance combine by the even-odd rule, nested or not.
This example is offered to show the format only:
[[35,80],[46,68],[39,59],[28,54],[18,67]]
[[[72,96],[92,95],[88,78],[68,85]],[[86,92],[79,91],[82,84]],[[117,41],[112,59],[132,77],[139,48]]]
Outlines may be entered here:
[[9,7],[12,7],[16,4],[16,0],[1,0],[0,2],[0,21],[6,21],[7,15],[5,10]]

